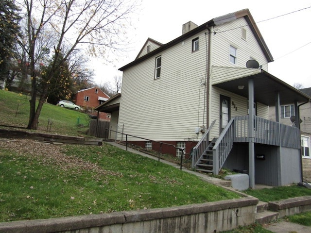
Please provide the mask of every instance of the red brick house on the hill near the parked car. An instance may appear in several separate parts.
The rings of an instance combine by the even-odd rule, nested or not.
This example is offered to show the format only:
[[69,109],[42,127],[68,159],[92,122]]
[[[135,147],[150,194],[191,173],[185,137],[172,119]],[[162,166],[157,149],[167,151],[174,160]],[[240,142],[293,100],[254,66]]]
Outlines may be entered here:
[[[109,100],[110,97],[105,94],[99,87],[95,86],[78,91],[75,94],[74,99],[75,104],[79,105],[83,109],[86,109],[90,114],[92,114],[94,107]],[[110,120],[110,114],[101,112],[99,113],[99,118]]]

